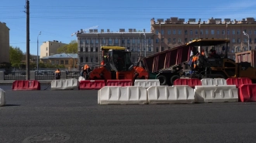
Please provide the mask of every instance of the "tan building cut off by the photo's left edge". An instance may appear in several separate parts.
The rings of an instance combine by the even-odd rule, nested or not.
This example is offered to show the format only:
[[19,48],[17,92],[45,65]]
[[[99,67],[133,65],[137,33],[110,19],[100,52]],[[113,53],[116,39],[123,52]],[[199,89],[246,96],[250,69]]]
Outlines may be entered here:
[[0,63],[10,62],[9,30],[5,22],[0,22]]

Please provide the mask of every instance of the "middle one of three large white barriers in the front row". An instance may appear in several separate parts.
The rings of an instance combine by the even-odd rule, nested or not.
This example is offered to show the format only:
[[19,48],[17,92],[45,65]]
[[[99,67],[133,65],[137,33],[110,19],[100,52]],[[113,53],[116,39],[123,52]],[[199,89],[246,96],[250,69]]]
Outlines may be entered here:
[[149,87],[147,94],[149,104],[189,104],[195,101],[194,90],[186,85]]

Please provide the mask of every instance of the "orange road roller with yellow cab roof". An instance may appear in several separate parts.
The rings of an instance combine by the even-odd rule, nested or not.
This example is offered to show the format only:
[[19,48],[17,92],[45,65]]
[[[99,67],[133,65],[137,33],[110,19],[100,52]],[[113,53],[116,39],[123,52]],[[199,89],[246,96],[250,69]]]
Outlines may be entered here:
[[[125,47],[102,46],[102,65],[92,70],[90,80],[135,80],[139,73],[145,72],[140,67],[133,66],[130,60],[131,52]],[[144,73],[146,75],[147,73]],[[147,78],[147,76],[145,76]]]

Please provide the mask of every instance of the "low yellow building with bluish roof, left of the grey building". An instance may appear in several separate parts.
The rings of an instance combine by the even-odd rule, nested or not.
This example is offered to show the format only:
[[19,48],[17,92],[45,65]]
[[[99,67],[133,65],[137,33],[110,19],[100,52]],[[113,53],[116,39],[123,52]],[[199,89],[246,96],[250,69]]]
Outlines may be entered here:
[[52,65],[64,65],[68,70],[78,69],[78,54],[77,53],[58,53],[40,58],[43,63]]

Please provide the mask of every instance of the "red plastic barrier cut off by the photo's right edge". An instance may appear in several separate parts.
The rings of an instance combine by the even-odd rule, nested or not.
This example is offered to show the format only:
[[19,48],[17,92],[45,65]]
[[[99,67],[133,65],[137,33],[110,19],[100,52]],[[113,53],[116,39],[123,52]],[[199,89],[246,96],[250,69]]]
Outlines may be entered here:
[[243,84],[239,87],[239,97],[241,102],[256,101],[256,84]]

